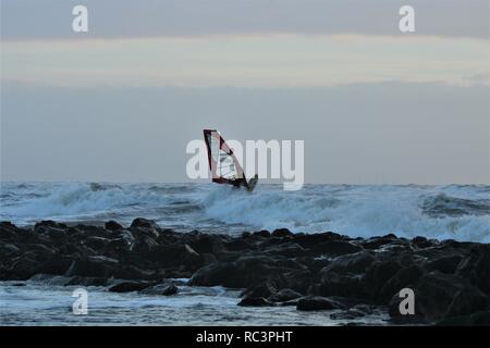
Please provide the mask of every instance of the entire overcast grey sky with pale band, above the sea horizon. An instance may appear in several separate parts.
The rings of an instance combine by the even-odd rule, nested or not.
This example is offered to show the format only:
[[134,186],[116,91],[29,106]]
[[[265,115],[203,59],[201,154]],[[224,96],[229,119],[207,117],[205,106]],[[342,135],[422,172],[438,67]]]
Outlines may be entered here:
[[2,181],[187,182],[187,142],[218,128],[304,140],[307,183],[490,184],[488,0],[0,10]]

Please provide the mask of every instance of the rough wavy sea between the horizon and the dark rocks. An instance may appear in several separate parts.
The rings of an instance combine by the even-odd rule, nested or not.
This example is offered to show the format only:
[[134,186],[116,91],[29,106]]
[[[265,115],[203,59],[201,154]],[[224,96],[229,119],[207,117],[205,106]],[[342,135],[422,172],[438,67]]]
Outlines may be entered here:
[[490,186],[306,185],[246,192],[215,184],[2,183],[0,220],[130,224],[238,234],[286,227],[352,237],[397,236],[490,243]]

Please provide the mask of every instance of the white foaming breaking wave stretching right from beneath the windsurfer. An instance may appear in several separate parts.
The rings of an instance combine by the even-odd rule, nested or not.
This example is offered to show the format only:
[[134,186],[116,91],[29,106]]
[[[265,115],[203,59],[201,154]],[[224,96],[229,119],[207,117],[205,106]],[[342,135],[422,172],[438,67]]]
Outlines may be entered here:
[[[394,233],[490,243],[489,201],[438,194],[439,187],[321,186],[297,192],[228,187],[210,192],[206,213],[223,223],[294,232],[333,231],[352,237]],[[451,190],[454,190],[453,188]],[[474,195],[474,190],[460,191]],[[483,192],[477,194],[487,196]]]

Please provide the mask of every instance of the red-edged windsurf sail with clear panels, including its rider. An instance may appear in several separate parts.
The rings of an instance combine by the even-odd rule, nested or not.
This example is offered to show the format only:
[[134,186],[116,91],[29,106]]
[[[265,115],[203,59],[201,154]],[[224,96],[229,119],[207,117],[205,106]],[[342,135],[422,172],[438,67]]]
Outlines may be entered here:
[[216,129],[204,129],[204,137],[212,182],[236,187],[245,186],[252,191],[257,184],[257,175],[250,181],[249,185],[242,165],[233,153],[233,149],[228,146],[220,133]]

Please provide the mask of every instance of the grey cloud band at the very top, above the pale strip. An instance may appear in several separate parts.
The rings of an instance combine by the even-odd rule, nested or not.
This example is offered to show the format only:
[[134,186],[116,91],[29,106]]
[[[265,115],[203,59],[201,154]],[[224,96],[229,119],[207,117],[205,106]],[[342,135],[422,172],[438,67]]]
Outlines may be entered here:
[[[71,28],[85,4],[89,33]],[[294,33],[403,35],[402,0],[2,0],[2,39],[84,39]],[[488,39],[488,0],[411,0],[416,33]]]

